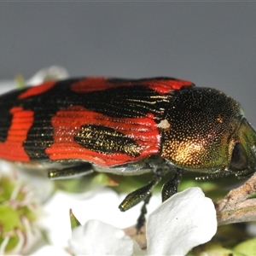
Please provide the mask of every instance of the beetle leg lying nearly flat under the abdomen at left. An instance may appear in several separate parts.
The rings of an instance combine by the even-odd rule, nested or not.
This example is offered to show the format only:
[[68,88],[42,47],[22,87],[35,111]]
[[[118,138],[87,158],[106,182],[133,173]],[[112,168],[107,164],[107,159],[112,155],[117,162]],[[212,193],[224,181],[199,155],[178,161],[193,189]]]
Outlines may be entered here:
[[84,175],[88,175],[94,172],[91,165],[89,163],[84,163],[79,166],[69,166],[63,169],[55,169],[49,170],[48,177],[50,179],[63,179],[70,177],[80,177]]

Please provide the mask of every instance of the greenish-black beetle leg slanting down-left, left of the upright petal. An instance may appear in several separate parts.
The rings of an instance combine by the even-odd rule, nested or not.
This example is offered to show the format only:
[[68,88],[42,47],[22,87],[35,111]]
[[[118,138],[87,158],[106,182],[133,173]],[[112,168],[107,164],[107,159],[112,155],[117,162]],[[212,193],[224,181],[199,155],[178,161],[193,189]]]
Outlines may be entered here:
[[125,197],[125,200],[119,205],[121,212],[125,212],[131,207],[136,206],[139,202],[147,200],[148,196],[151,195],[151,189],[160,182],[162,175],[155,174],[152,180],[143,188],[137,189],[131,192]]

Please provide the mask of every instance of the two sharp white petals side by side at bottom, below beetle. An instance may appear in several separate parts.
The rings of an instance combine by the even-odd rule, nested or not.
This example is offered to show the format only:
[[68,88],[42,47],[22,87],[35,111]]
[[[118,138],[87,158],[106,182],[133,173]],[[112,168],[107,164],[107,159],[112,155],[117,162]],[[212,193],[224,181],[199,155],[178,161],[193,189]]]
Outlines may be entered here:
[[123,230],[90,220],[73,230],[69,248],[75,255],[185,255],[211,240],[217,230],[212,200],[201,189],[173,195],[148,216],[148,248],[143,252]]

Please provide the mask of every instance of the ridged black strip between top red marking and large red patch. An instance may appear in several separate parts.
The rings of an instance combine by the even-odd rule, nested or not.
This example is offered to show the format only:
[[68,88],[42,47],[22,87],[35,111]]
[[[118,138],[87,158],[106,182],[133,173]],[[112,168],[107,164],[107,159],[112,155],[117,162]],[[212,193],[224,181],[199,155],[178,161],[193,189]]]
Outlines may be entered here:
[[160,95],[146,86],[134,84],[91,91],[86,94],[70,92],[69,101],[86,109],[117,118],[144,117],[152,113],[160,119],[168,105],[171,95]]

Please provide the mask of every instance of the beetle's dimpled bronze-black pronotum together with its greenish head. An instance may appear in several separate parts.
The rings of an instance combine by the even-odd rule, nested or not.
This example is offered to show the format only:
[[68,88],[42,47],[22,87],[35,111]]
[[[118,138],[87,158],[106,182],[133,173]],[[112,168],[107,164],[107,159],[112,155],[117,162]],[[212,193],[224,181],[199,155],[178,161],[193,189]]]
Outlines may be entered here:
[[256,171],[256,132],[240,104],[223,92],[177,90],[166,120],[170,125],[162,131],[161,156],[174,166],[239,177]]

